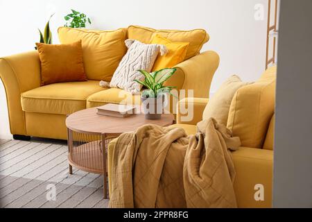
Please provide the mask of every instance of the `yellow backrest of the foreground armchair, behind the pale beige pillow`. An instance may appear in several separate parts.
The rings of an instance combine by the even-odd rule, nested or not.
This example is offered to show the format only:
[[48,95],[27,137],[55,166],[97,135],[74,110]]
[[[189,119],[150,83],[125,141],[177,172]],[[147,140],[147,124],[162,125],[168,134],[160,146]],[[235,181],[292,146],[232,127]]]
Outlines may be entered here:
[[275,112],[276,71],[276,67],[270,67],[257,82],[241,87],[234,95],[227,128],[240,137],[241,146],[263,148],[265,144]]

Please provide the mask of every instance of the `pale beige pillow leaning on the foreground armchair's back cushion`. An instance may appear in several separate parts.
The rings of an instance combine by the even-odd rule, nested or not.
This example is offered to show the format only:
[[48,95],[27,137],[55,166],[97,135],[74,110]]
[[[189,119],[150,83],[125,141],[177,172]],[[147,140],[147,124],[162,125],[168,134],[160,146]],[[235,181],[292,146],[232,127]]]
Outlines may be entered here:
[[233,75],[229,77],[218,89],[216,94],[209,99],[202,119],[214,118],[218,123],[227,126],[227,117],[229,115],[229,108],[236,91],[250,83],[243,83],[239,76]]

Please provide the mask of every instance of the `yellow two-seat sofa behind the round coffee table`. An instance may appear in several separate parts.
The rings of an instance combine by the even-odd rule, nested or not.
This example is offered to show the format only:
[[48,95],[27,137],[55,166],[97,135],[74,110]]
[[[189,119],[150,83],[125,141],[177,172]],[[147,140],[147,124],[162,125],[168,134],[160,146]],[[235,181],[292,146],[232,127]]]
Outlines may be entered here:
[[[80,33],[75,35],[77,32]],[[135,96],[123,92],[121,89],[100,87],[99,80],[101,80],[101,76],[97,76],[101,72],[94,69],[95,67],[105,69],[105,67],[103,67],[103,62],[98,61],[100,57],[94,56],[93,58],[88,55],[92,53],[90,51],[92,44],[101,44],[103,46],[107,42],[107,37],[114,38],[107,44],[114,44],[114,47],[119,47],[119,51],[122,53],[114,55],[114,61],[109,57],[107,58],[107,55],[110,55],[110,49],[99,51],[99,53],[102,53],[101,56],[105,57],[103,59],[107,60],[107,64],[110,65],[105,69],[106,74],[112,75],[114,67],[116,68],[116,65],[118,65],[118,59],[121,60],[125,53],[124,46],[121,46],[123,41],[117,41],[118,37],[135,38],[148,43],[154,33],[160,33],[172,41],[181,42],[184,40],[190,42],[187,60],[176,65],[177,71],[166,84],[176,86],[177,89],[195,89],[194,96],[207,98],[211,79],[218,68],[219,57],[214,51],[200,53],[202,44],[209,40],[209,35],[201,29],[194,31],[157,31],[153,28],[129,26],[114,32],[71,28],[64,30],[64,28],[61,28],[61,31],[59,29],[59,36],[63,43],[85,37],[83,40],[83,50],[84,47],[86,49],[84,51],[84,62],[89,80],[86,82],[55,83],[40,87],[40,58],[37,51],[0,58],[0,78],[6,89],[10,132],[13,137],[29,139],[29,136],[35,136],[67,139],[67,128],[65,126],[67,114],[105,103],[121,103],[128,97],[132,101],[139,101],[138,98],[132,98]],[[64,37],[64,35],[66,36]],[[103,35],[103,42],[98,43],[98,38],[101,35]],[[93,59],[94,61],[92,61]],[[112,65],[112,62],[114,65]],[[88,73],[92,71],[93,76]],[[107,75],[103,78],[107,80]],[[171,111],[174,112],[174,110]]]

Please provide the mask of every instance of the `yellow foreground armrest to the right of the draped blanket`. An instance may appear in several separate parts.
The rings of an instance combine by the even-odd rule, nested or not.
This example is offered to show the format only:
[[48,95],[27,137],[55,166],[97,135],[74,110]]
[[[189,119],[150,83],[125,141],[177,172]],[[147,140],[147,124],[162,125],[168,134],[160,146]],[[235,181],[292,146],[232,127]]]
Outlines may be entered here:
[[[272,207],[273,151],[240,147],[232,155],[236,170],[234,191],[239,207]],[[264,200],[254,198],[259,189],[257,185],[263,185]]]

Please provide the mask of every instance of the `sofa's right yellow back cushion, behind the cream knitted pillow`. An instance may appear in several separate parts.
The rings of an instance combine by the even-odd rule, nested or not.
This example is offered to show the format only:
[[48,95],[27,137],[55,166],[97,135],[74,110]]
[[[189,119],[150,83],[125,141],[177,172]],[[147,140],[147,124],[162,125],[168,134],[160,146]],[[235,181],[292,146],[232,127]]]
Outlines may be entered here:
[[209,35],[203,29],[194,29],[191,31],[180,31],[180,30],[156,30],[153,28],[147,28],[143,26],[129,26],[128,27],[128,38],[139,40],[140,42],[150,43],[153,36],[159,34],[162,37],[166,37],[172,42],[189,42],[187,49],[187,56],[185,60],[196,56],[200,53],[202,45],[208,42]]

